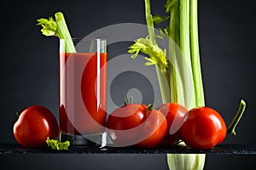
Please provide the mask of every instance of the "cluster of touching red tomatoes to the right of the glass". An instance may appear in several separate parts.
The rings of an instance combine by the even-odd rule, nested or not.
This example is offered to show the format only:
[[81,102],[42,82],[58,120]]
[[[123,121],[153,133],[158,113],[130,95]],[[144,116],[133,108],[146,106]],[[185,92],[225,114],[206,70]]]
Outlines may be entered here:
[[176,103],[160,105],[158,110],[148,110],[146,105],[124,105],[108,116],[107,127],[113,146],[143,148],[183,140],[191,148],[207,150],[220,144],[227,132],[217,111],[208,107],[188,111]]

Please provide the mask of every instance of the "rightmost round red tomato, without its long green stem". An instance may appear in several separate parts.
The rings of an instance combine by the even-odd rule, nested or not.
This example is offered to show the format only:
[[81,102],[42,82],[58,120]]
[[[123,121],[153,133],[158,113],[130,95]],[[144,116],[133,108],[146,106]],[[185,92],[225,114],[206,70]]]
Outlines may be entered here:
[[190,110],[181,127],[182,139],[189,147],[207,150],[220,144],[226,136],[226,125],[222,116],[209,107]]

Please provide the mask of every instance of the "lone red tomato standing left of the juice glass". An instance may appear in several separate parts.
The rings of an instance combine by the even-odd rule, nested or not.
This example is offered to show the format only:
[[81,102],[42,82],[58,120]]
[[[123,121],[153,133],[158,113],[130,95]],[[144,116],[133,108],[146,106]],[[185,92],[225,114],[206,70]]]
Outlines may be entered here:
[[17,142],[25,147],[46,146],[46,139],[55,139],[59,135],[58,122],[46,107],[32,105],[21,111],[13,127]]

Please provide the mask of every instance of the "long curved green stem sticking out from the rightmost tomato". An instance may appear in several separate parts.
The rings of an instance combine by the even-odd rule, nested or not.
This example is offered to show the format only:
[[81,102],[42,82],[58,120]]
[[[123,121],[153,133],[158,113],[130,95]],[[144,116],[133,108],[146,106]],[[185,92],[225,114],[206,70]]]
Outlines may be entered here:
[[236,125],[240,121],[241,116],[242,116],[243,112],[245,111],[245,108],[246,108],[246,103],[243,99],[241,99],[239,109],[238,109],[233,121],[231,122],[230,126],[227,128],[227,133],[230,133],[230,134],[233,134],[234,136],[236,136],[236,131],[235,131]]

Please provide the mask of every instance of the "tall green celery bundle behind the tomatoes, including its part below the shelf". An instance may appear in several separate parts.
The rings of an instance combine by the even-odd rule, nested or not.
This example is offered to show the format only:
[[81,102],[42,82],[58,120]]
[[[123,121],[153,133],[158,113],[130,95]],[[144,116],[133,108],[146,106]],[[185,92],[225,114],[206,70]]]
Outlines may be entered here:
[[[204,106],[198,42],[197,0],[167,0],[169,16],[151,14],[150,0],[145,0],[148,37],[137,39],[128,52],[135,59],[139,52],[148,54],[145,65],[155,65],[162,102],[175,102],[188,110]],[[154,25],[165,20],[169,26],[160,31],[169,37],[169,54],[157,43]],[[177,48],[176,48],[177,47]],[[166,83],[167,82],[167,83]],[[205,154],[168,154],[170,169],[203,169]]]

